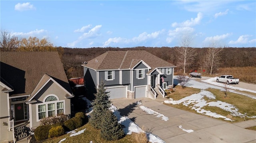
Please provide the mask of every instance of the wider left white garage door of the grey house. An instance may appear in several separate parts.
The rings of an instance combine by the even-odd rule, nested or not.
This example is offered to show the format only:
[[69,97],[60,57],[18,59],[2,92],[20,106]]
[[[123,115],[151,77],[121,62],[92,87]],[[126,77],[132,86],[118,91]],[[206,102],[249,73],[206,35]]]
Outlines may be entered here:
[[106,92],[109,92],[109,99],[126,98],[126,86],[107,88]]

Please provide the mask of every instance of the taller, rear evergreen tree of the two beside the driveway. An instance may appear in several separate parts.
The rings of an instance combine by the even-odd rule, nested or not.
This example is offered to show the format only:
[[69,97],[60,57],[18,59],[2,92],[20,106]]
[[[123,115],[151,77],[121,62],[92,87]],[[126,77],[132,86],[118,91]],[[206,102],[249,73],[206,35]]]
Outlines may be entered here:
[[90,124],[96,128],[102,128],[102,118],[104,116],[104,112],[108,110],[110,107],[110,100],[108,100],[109,92],[106,92],[106,88],[104,88],[105,84],[103,82],[100,83],[97,93],[95,94],[95,100],[92,102],[94,106],[93,112],[90,114]]

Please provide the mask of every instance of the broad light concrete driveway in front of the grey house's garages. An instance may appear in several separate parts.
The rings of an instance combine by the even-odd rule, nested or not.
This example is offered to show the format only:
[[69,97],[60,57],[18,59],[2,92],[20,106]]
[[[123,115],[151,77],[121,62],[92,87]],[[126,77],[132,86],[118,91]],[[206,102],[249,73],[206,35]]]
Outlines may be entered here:
[[[151,133],[166,143],[256,143],[256,131],[244,129],[256,125],[256,119],[228,123],[166,106],[161,103],[164,100],[122,98],[111,101],[122,116],[128,116],[144,130],[151,130]],[[137,105],[136,101],[142,102],[142,105]],[[139,106],[146,106],[168,117],[169,120],[164,121],[162,118],[148,115]],[[194,131],[187,133],[180,129],[179,125],[182,125],[183,129]]]

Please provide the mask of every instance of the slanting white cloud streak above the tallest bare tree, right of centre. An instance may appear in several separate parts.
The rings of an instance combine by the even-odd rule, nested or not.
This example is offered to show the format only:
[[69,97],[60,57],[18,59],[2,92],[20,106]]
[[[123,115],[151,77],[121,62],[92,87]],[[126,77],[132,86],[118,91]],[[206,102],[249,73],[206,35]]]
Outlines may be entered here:
[[190,20],[186,20],[185,22],[182,22],[180,24],[178,24],[177,22],[174,22],[172,23],[172,27],[190,27],[190,26],[198,25],[200,24],[202,18],[203,18],[203,14],[199,12],[196,18],[191,18]]

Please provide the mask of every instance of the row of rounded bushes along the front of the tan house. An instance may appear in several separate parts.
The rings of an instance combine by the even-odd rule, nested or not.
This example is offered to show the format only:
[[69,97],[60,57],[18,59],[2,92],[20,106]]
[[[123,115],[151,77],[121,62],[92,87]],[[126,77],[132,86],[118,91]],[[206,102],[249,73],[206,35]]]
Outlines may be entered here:
[[[56,118],[56,117],[54,117]],[[87,116],[83,112],[78,112],[75,117],[53,125],[40,125],[34,131],[37,141],[42,141],[51,137],[64,135],[66,131],[72,131],[88,122]]]

